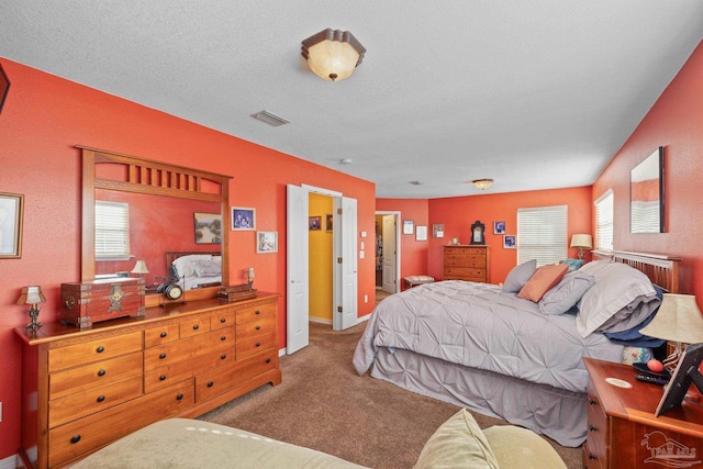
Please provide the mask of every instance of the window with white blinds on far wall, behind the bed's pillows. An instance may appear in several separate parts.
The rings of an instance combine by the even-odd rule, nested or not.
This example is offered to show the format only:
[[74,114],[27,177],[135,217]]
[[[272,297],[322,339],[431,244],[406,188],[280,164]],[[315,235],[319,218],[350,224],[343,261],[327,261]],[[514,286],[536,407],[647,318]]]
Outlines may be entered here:
[[558,264],[568,249],[568,206],[517,209],[517,264]]

